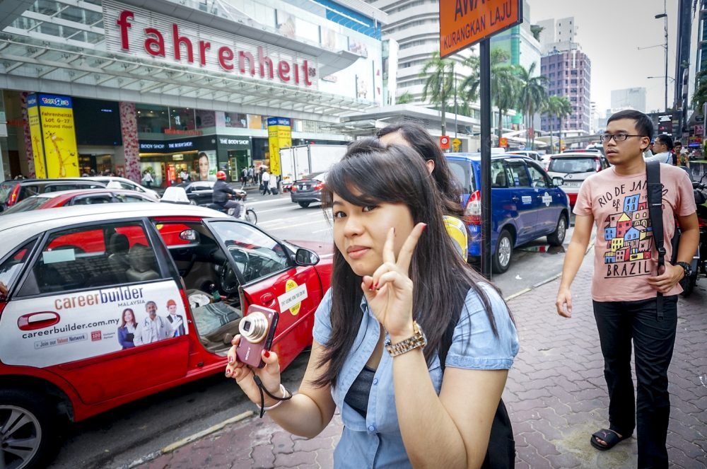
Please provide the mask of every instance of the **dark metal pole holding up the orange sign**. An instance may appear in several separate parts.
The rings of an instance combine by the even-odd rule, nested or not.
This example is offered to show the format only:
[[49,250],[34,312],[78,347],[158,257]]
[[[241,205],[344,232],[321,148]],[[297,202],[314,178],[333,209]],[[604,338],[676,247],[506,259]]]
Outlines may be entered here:
[[491,39],[479,42],[481,65],[481,275],[491,279]]

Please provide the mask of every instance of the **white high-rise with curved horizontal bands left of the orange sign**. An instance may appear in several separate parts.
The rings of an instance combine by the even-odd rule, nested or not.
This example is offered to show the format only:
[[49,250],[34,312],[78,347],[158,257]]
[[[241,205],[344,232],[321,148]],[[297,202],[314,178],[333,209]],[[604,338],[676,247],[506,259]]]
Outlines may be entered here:
[[[423,104],[422,91],[426,78],[422,70],[434,51],[440,49],[440,16],[438,1],[422,0],[366,0],[371,6],[387,13],[387,24],[382,28],[383,39],[398,43],[397,96],[409,93],[410,103]],[[450,59],[457,63],[476,54],[467,48]],[[461,81],[469,70],[455,67]]]

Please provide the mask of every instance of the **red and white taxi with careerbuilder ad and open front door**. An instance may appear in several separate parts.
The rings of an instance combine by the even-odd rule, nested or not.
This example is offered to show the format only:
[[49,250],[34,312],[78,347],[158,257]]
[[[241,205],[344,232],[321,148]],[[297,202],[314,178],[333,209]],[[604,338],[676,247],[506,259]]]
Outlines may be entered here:
[[282,367],[312,341],[332,245],[301,248],[190,205],[114,204],[104,212],[2,217],[6,467],[45,467],[68,422],[223,372],[250,305],[279,312],[272,349]]

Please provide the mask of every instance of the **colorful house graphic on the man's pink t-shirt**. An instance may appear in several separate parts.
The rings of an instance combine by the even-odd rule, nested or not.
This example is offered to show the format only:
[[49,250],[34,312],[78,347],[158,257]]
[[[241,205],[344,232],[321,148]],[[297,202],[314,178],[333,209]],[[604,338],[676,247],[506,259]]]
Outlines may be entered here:
[[[645,195],[644,195],[645,197]],[[629,195],[617,208],[623,209],[604,219],[604,239],[607,252],[604,264],[650,259],[653,231],[650,228],[648,204],[641,195]]]

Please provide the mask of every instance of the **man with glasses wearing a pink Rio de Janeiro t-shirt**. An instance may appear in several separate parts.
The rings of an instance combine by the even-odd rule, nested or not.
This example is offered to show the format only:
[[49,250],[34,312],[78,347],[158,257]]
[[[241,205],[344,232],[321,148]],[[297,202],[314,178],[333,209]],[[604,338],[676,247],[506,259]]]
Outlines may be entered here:
[[[597,226],[592,299],[609,388],[609,429],[593,434],[600,451],[629,438],[636,428],[638,468],[667,468],[665,439],[670,417],[667,369],[677,329],[679,281],[697,250],[699,226],[688,174],[660,165],[665,270],[658,272],[658,253],[648,212],[643,151],[650,144],[653,123],[635,110],[609,117],[602,135],[612,167],[585,180],[575,204],[575,229],[562,270],[556,308],[571,317],[570,286]],[[670,240],[675,218],[682,229],[673,265]],[[662,314],[658,292],[665,295]],[[636,357],[638,399],[634,403],[631,341]]]

